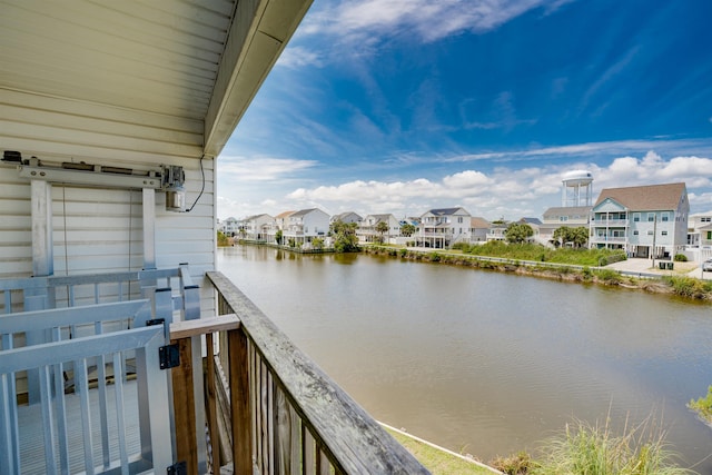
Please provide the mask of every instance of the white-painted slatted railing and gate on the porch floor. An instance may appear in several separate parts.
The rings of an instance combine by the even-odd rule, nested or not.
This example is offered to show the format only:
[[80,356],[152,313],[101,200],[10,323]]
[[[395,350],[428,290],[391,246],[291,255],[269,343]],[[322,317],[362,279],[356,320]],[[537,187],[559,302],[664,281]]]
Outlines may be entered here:
[[[0,294],[0,474],[166,471],[176,442],[169,373],[160,369],[158,348],[174,316],[200,317],[187,265],[3,279]],[[201,380],[196,405],[202,404]],[[39,459],[28,454],[41,444],[22,423],[38,415]],[[131,417],[139,426],[134,445],[126,428]],[[196,420],[205,427],[204,416]],[[83,462],[70,457],[77,451]],[[205,457],[199,462],[206,466]]]

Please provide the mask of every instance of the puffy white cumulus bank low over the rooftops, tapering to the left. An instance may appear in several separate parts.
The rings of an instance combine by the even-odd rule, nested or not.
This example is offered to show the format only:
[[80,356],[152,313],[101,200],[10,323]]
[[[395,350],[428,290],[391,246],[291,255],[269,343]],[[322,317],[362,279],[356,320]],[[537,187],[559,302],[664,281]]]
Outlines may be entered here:
[[602,188],[685,181],[689,190],[700,189],[696,194],[691,191],[694,206],[712,206],[712,192],[709,191],[712,186],[711,159],[674,157],[665,160],[654,151],[641,158],[620,157],[606,166],[567,162],[540,168],[498,167],[490,172],[468,169],[438,180],[354,180],[335,186],[299,188],[288,194],[286,199],[297,204],[320,204],[326,209],[394,212],[396,216],[399,212],[419,215],[436,207],[465,206],[473,215],[491,218],[502,215],[508,219],[541,217],[546,208],[561,206],[562,177],[572,169],[592,171],[594,199]]

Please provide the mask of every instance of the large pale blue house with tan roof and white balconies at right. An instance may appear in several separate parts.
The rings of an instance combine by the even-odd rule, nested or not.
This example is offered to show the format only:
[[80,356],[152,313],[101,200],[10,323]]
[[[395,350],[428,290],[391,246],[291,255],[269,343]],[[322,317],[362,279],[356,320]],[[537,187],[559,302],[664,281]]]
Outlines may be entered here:
[[689,212],[683,182],[603,189],[592,209],[590,247],[671,257],[684,250]]

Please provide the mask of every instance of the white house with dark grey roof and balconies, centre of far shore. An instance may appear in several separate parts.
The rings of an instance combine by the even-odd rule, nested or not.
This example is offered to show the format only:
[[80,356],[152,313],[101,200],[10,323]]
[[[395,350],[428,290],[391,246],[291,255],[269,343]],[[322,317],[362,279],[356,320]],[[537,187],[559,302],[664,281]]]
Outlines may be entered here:
[[455,243],[469,243],[472,216],[465,208],[431,209],[421,216],[416,246],[445,249]]

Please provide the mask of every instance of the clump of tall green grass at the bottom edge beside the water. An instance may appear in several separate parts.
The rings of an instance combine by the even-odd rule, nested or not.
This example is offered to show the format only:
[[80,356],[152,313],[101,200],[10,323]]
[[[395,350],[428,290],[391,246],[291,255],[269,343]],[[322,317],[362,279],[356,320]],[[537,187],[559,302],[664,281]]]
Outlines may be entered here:
[[664,431],[652,419],[627,426],[622,435],[605,425],[575,422],[542,446],[533,475],[688,475],[675,464]]

